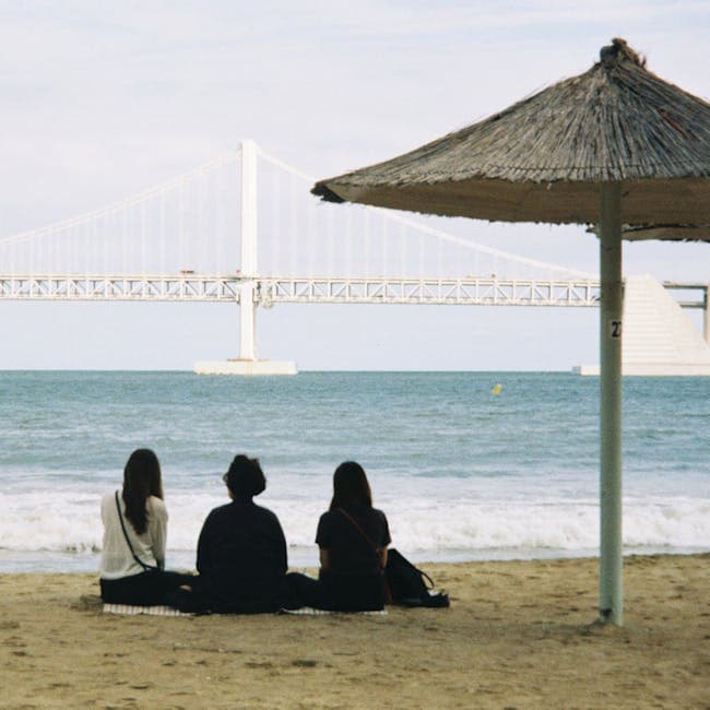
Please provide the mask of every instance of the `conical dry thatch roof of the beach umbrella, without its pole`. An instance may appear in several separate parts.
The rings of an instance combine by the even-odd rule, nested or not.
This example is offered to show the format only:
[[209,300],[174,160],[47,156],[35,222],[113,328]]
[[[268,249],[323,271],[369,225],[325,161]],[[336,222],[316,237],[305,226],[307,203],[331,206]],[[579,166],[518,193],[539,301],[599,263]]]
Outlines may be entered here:
[[312,192],[429,214],[592,224],[601,185],[620,181],[625,224],[707,225],[708,178],[710,104],[614,39],[583,74]]

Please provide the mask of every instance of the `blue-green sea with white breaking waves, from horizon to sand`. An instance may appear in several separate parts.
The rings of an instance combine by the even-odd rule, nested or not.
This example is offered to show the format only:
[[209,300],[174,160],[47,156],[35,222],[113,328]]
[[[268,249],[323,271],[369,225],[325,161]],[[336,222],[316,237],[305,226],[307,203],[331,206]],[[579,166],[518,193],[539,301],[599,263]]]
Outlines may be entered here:
[[[499,387],[496,387],[499,386]],[[710,551],[710,379],[624,382],[626,553]],[[99,498],[152,448],[168,567],[192,568],[222,474],[258,457],[257,501],[294,567],[332,473],[368,473],[393,545],[414,560],[595,555],[599,380],[564,372],[0,372],[0,571],[95,570]]]

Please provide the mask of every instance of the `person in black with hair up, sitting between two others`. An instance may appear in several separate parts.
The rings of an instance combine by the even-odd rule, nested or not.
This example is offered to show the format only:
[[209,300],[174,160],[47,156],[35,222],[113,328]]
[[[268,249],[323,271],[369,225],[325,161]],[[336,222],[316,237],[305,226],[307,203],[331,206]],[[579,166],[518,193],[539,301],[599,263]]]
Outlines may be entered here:
[[258,459],[235,457],[223,480],[232,502],[210,512],[198,542],[197,568],[185,611],[250,614],[277,611],[286,573],[279,518],[252,498],[267,488]]

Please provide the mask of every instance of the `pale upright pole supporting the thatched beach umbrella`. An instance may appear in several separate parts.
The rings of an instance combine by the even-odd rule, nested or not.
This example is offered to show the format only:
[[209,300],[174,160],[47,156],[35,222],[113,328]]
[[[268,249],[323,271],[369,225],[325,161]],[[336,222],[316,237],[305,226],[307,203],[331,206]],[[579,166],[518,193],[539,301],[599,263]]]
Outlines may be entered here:
[[624,623],[622,561],[622,184],[602,184],[601,268],[601,540],[602,622]]

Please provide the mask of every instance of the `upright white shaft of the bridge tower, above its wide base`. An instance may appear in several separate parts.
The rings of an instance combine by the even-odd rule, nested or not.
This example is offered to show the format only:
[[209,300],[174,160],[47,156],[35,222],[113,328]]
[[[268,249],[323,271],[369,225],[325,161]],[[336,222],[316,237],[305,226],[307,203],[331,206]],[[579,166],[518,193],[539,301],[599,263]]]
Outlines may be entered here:
[[257,359],[257,304],[253,297],[257,273],[257,144],[241,142],[241,275],[239,287],[239,359]]

